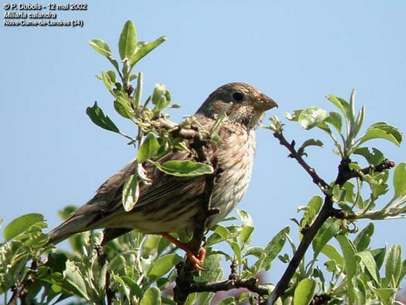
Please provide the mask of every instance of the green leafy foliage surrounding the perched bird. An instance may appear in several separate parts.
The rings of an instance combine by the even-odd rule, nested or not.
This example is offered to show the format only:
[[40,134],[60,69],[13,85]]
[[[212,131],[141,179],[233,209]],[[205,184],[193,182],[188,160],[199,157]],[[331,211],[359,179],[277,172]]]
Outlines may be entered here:
[[[127,21],[118,43],[121,69],[105,41],[92,39],[89,42],[114,67],[114,70],[102,71],[97,79],[103,81],[113,96],[115,111],[137,127],[137,134],[131,137],[105,115],[96,102],[86,110],[94,124],[120,134],[137,149],[134,173],[122,190],[126,211],[137,204],[140,185],[151,183],[144,169],[147,161],[160,171],[180,177],[213,173],[213,167],[206,163],[156,161],[173,149],[188,150],[184,139],[177,137],[172,129],[161,128],[160,125],[161,120],[168,118],[164,113],[166,109],[178,108],[171,104],[170,92],[163,84],[156,84],[151,95],[142,103],[143,74],[133,73],[136,64],[165,40],[162,36],[151,43],[137,41],[136,28]],[[135,89],[132,82],[136,83]],[[358,230],[357,221],[400,218],[406,214],[406,164],[402,162],[396,166],[391,188],[394,195],[383,204],[383,195],[389,190],[391,166],[379,167],[386,159],[384,153],[375,147],[370,150],[365,146],[372,139],[384,139],[400,145],[402,134],[386,122],[372,124],[362,134],[365,109],[362,107],[358,113],[355,112],[354,91],[349,102],[331,94],[327,99],[340,112],[309,107],[285,116],[306,130],[318,128],[326,132],[335,147],[333,152],[341,157],[341,164],[348,166],[347,174],[350,176],[340,178],[345,180],[344,183],[337,183],[340,180],[337,178],[337,181],[322,188],[325,198],[340,208],[342,217],[329,217],[321,224],[311,240],[311,251],[306,257],[299,257],[300,263],[290,279],[290,285],[282,295],[278,295],[280,298],[276,303],[306,305],[323,300],[328,304],[392,304],[406,275],[402,249],[400,245],[371,248],[374,223],[369,222]],[[201,137],[219,141],[216,132],[224,118],[225,114],[220,116],[215,124],[216,130],[199,129]],[[271,121],[265,128],[282,137],[284,124],[275,116]],[[194,123],[193,117],[187,117],[175,128],[187,128]],[[323,143],[309,139],[296,151],[293,146],[292,151],[296,154],[291,153],[290,156],[303,160],[311,146],[322,147]],[[366,170],[351,161],[354,154],[365,158]],[[355,178],[355,182],[350,181],[351,178]],[[368,191],[363,191],[364,188]],[[297,224],[295,234],[299,241],[312,228],[324,206],[325,200],[315,195],[306,206],[298,208],[301,217],[292,220]],[[59,215],[66,219],[74,209],[66,207],[59,211]],[[204,287],[206,283],[222,281],[226,274],[221,264],[224,260],[233,266],[230,275],[233,280],[229,282],[232,285],[236,281],[258,277],[261,272],[269,270],[276,259],[290,264],[292,257],[297,255],[297,245],[289,226],[270,238],[266,246],[253,246],[251,241],[255,227],[251,216],[242,210],[236,210],[236,213],[238,219],[230,217],[211,228],[205,243],[204,270],[194,274],[195,283]],[[69,239],[72,251],[68,252],[50,249],[48,236],[43,232],[45,228],[47,224],[42,215],[27,214],[3,229],[5,240],[0,244],[0,292],[5,303],[18,296],[22,302],[41,304],[55,304],[69,297],[76,297],[77,303],[174,304],[175,266],[184,258],[180,256],[182,252],[166,239],[134,230],[102,249],[103,233],[91,231],[72,236]],[[190,237],[183,234],[174,236],[182,241]],[[216,249],[219,243],[227,245],[228,250]],[[285,253],[288,247],[292,256]],[[274,285],[261,285],[269,293],[275,291]],[[190,293],[186,303],[209,304],[213,297],[212,290],[201,290]],[[255,303],[265,301],[266,297],[267,293],[258,297],[254,292],[245,291],[225,297],[218,303]]]

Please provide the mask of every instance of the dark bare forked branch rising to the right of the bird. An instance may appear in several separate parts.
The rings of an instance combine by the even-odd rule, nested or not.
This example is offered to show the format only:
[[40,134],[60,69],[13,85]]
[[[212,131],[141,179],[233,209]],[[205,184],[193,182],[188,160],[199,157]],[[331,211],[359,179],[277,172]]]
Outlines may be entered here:
[[[321,226],[324,224],[324,222],[330,218],[330,217],[335,217],[339,219],[344,218],[344,213],[342,210],[337,210],[333,208],[333,200],[332,196],[327,194],[327,190],[330,188],[328,184],[325,183],[323,179],[321,179],[316,172],[314,171],[313,168],[311,168],[306,161],[302,159],[302,157],[297,153],[297,151],[294,149],[294,141],[292,141],[291,144],[288,143],[288,141],[285,139],[285,137],[282,134],[282,131],[280,132],[275,132],[274,137],[279,139],[279,142],[281,145],[285,146],[289,151],[290,155],[289,157],[294,158],[297,160],[297,162],[306,170],[309,175],[313,178],[313,182],[316,183],[320,189],[325,193],[324,197],[324,204],[320,210],[320,213],[317,215],[316,219],[312,223],[312,225],[303,232],[303,238],[300,241],[299,246],[297,247],[297,250],[295,254],[293,255],[291,261],[289,262],[289,265],[287,266],[284,274],[282,275],[282,278],[279,280],[278,284],[275,286],[275,289],[273,290],[272,294],[268,297],[266,300],[267,305],[272,305],[274,302],[285,292],[285,290],[288,288],[290,280],[292,279],[297,267],[300,264],[300,261],[303,259],[304,254],[307,252],[309,249],[310,244],[312,243],[313,239],[315,238],[317,232],[321,228]],[[339,165],[339,172],[337,174],[337,177],[335,179],[334,185],[340,185],[343,186],[344,183],[346,183],[348,180],[351,178],[355,177],[360,177],[361,175],[359,172],[353,171],[350,169],[349,164],[351,163],[350,159],[342,159]],[[376,172],[382,172],[386,170],[387,168],[391,168],[394,166],[394,162],[384,160],[381,164],[376,165],[376,166],[368,166],[366,168],[363,168],[361,170],[361,173],[364,175],[367,175],[371,170],[376,171]]]

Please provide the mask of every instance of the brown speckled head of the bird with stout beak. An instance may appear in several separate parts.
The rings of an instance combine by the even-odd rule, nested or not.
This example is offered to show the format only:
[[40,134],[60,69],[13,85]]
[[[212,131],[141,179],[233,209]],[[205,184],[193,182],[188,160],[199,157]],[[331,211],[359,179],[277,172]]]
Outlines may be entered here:
[[230,105],[227,121],[255,129],[265,111],[278,107],[269,96],[246,83],[225,84],[215,91],[200,106],[196,114],[216,119],[221,111]]

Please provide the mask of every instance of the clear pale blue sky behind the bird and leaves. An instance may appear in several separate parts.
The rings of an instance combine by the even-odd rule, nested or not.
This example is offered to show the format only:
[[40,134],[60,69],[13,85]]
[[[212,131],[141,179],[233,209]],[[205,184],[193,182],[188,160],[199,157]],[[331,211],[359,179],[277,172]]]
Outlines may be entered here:
[[[366,124],[385,120],[405,131],[405,11],[401,0],[89,1],[85,12],[56,12],[58,19],[83,19],[83,28],[5,27],[2,20],[0,218],[8,223],[39,212],[55,226],[57,210],[86,202],[134,157],[125,140],[96,127],[85,114],[97,100],[131,133],[132,126],[115,114],[111,96],[94,77],[111,69],[110,63],[88,45],[101,38],[117,54],[127,19],[136,24],[139,40],[168,37],[139,69],[144,92],[164,83],[183,106],[171,111],[175,121],[194,113],[218,86],[243,81],[279,102],[265,120],[308,106],[333,110],[325,94],[348,98],[355,88],[358,107],[366,106]],[[325,140],[324,148],[309,150],[308,161],[325,180],[335,178],[339,158],[321,131],[287,123],[285,134],[297,143]],[[269,130],[257,135],[253,178],[239,207],[256,224],[253,245],[264,246],[282,227],[294,228],[289,218],[300,217],[297,206],[320,192]],[[374,145],[396,163],[406,160],[404,145]],[[405,247],[405,227],[406,220],[376,222],[373,246]],[[277,280],[282,268],[277,263],[268,278]]]

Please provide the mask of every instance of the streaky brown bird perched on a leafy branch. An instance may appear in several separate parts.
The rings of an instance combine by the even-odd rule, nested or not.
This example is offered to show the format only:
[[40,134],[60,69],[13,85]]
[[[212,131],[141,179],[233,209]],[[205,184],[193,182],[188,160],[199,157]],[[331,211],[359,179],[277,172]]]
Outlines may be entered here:
[[[241,82],[220,86],[198,108],[194,120],[210,130],[223,110],[225,119],[218,130],[219,142],[207,149],[209,160],[216,159],[221,172],[216,177],[211,194],[211,208],[219,213],[207,219],[210,229],[221,221],[241,201],[251,180],[255,155],[255,130],[265,111],[278,107],[276,101],[255,87]],[[158,162],[191,160],[196,157],[186,150],[173,150]],[[202,269],[205,251],[196,256],[187,246],[170,233],[193,232],[196,215],[202,205],[205,176],[177,177],[159,171],[146,161],[144,168],[151,184],[140,186],[140,196],[131,211],[122,205],[122,189],[134,172],[136,159],[110,177],[95,195],[69,218],[49,233],[53,245],[71,235],[104,228],[102,245],[133,229],[162,235],[179,248],[196,266]]]

